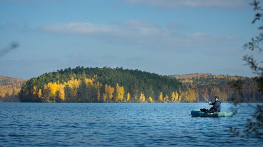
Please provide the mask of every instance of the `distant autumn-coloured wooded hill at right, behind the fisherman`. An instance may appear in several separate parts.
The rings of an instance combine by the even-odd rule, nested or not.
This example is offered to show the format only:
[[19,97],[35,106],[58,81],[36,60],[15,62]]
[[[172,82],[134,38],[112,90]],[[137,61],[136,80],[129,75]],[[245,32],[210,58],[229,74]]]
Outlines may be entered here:
[[[185,74],[173,75],[182,82],[183,85],[195,87],[196,90],[206,98],[213,101],[214,96],[219,96],[220,101],[230,101],[232,97],[244,102],[262,102],[263,97],[257,91],[257,83],[250,77],[228,76],[228,75],[212,75],[212,74]],[[230,88],[229,82],[240,80],[243,82],[242,95]],[[205,101],[199,94],[198,99]]]

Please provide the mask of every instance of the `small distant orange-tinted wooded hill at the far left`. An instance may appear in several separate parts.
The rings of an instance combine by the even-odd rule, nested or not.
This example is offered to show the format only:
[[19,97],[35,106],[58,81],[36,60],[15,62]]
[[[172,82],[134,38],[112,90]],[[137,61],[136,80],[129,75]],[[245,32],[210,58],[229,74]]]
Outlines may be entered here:
[[18,102],[17,94],[26,80],[0,76],[0,102]]

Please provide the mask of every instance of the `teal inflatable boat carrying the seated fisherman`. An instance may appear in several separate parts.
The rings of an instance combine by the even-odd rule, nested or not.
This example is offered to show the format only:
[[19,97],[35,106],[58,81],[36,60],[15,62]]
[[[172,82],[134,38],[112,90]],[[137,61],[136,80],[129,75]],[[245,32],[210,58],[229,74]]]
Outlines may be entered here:
[[233,116],[234,113],[227,111],[227,112],[215,112],[215,113],[206,113],[205,112],[201,112],[200,109],[195,108],[194,110],[191,111],[192,116],[195,117],[199,117],[200,115],[202,115],[201,117],[230,117]]

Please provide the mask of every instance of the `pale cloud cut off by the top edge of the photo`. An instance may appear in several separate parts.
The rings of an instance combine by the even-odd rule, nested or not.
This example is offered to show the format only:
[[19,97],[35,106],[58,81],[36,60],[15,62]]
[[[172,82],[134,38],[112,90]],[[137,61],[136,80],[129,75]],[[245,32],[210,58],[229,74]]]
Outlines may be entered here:
[[180,8],[240,8],[248,5],[247,0],[124,0],[127,3],[146,4],[151,7]]

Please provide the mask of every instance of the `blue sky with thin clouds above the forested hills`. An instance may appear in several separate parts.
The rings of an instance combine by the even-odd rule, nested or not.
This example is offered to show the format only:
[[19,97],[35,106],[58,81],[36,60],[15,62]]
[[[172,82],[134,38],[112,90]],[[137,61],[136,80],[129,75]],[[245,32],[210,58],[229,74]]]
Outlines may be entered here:
[[[253,0],[0,0],[0,75],[68,67],[254,77]],[[262,4],[262,5],[260,5]],[[263,6],[263,2],[259,5]]]

